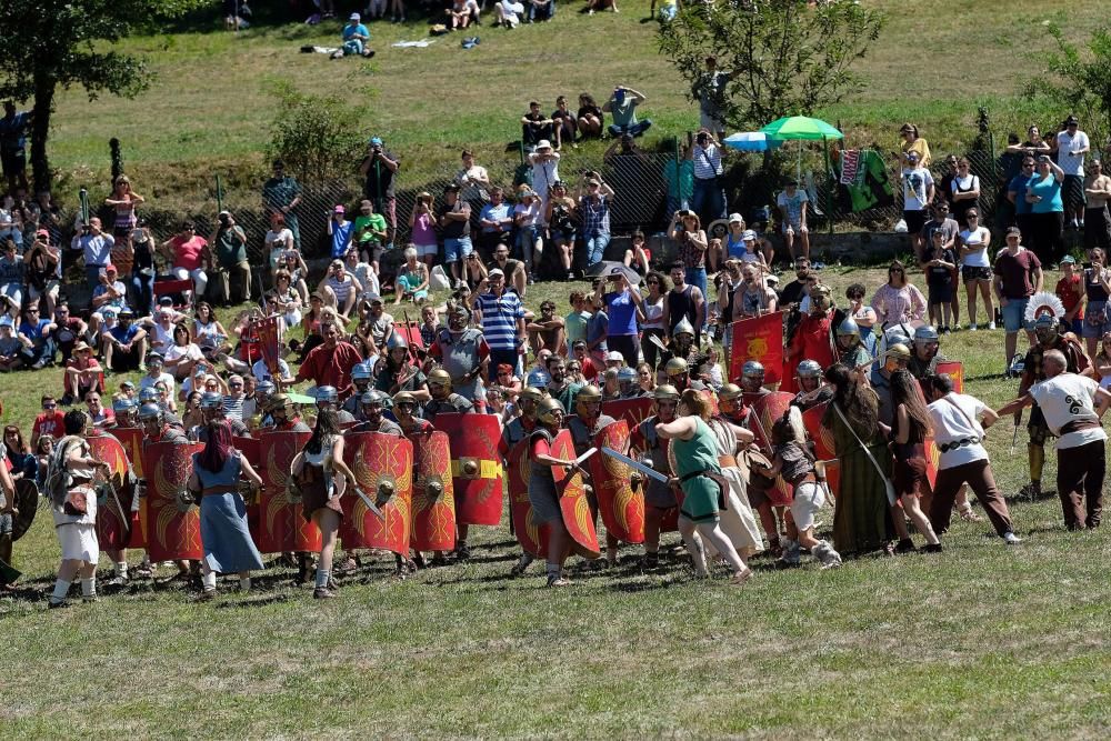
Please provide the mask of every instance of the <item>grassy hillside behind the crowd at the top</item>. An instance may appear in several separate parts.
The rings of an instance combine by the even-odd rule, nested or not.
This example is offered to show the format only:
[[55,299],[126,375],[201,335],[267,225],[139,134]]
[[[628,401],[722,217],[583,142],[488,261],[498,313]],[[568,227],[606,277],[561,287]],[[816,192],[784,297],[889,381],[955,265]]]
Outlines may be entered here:
[[[850,146],[882,150],[897,147],[904,120],[920,126],[935,152],[965,144],[975,136],[980,104],[992,114],[999,146],[1008,131],[1024,131],[1032,121],[1049,130],[1065,111],[1022,94],[1043,73],[1051,49],[1043,21],[1082,40],[1105,20],[1099,3],[1065,11],[1013,0],[950,0],[921,3],[913,12],[894,0],[869,4],[889,20],[859,67],[863,89],[820,114],[843,126]],[[657,26],[642,21],[648,2],[621,8],[587,17],[567,4],[550,23],[512,31],[483,26],[474,31],[482,42],[469,51],[460,49],[458,33],[427,49],[394,49],[396,41],[424,38],[427,24],[376,23],[378,56],[370,62],[298,52],[302,44],[334,46],[339,22],[263,26],[236,36],[213,18],[204,31],[132,39],[128,48],[146,53],[158,73],[153,87],[136,100],[61,94],[53,163],[73,191],[107,183],[108,140],[118,137],[136,190],[153,197],[151,206],[197,208],[211,198],[218,172],[232,194],[254,191],[276,104],[268,91],[278,79],[306,92],[341,91],[362,111],[351,126],[383,136],[402,156],[408,184],[458,166],[464,146],[498,177],[504,168],[496,166],[512,159],[504,147],[520,137],[517,121],[529,100],[548,111],[557,94],[573,103],[588,91],[601,102],[617,83],[648,97],[641,113],[655,122],[647,137],[652,146],[697,127],[697,107],[657,52]],[[604,146],[591,142],[574,157],[597,163]]]

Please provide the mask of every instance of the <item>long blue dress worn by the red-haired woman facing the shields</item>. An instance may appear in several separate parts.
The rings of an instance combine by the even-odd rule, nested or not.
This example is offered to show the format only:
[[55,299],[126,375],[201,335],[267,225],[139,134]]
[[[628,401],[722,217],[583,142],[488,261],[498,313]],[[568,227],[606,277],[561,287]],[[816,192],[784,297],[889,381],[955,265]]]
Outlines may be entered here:
[[[223,468],[216,473],[199,464],[200,453],[193,453],[192,458],[193,471],[202,490],[212,487],[234,489],[239,483],[242,462],[239,453],[229,455]],[[201,497],[201,544],[204,547],[204,562],[212,571],[236,573],[263,568],[262,555],[247,527],[247,505],[238,491]]]

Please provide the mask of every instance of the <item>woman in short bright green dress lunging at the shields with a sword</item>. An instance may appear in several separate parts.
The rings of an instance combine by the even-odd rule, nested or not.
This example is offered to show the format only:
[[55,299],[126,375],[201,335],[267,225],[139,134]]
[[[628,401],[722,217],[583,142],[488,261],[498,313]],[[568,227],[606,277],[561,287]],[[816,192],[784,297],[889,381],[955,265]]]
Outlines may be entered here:
[[679,508],[679,532],[687,550],[694,559],[694,573],[709,574],[705,565],[705,547],[709,540],[733,570],[732,582],[743,584],[752,575],[732,541],[719,527],[718,502],[727,487],[718,464],[718,439],[707,425],[710,402],[699,391],[687,389],[679,401],[680,417],[673,422],[655,425],[655,433],[671,440],[674,451],[675,475],[683,490]]

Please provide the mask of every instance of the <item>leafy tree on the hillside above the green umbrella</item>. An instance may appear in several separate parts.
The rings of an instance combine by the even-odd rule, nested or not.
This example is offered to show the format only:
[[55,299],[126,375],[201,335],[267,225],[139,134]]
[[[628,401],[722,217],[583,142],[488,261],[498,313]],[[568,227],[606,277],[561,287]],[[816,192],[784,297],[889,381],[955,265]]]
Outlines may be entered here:
[[757,129],[782,116],[809,116],[860,88],[851,71],[879,38],[883,14],[853,2],[808,8],[802,0],[689,3],[660,26],[660,51],[691,83],[698,101],[704,60],[731,72],[718,92],[724,121]]

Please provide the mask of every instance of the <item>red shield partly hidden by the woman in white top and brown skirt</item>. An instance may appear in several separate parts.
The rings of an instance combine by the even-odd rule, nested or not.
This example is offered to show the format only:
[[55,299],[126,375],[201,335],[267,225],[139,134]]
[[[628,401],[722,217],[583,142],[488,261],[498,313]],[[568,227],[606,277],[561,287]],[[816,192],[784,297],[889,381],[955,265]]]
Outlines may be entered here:
[[304,519],[301,503],[289,501],[286,493],[293,459],[311,437],[311,432],[263,432],[259,438],[262,494],[259,498],[259,528],[252,535],[263,553],[320,551],[320,529]]

